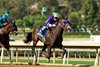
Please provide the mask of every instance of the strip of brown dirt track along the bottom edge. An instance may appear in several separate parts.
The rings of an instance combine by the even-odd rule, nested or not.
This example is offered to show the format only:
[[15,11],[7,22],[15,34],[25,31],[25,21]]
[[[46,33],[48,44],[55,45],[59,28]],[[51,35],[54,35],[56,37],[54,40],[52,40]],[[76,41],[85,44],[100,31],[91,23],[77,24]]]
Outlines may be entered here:
[[60,64],[0,64],[0,67],[90,67],[89,65],[60,65]]

